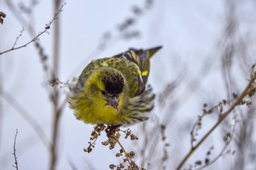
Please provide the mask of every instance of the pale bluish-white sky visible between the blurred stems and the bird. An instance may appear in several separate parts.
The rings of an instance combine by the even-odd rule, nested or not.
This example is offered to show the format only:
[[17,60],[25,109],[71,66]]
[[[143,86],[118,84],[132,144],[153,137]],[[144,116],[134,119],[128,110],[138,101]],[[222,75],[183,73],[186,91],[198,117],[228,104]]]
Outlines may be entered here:
[[[21,1],[13,1],[16,5]],[[30,1],[24,1],[28,4]],[[198,114],[201,114],[201,106],[207,101],[213,105],[227,97],[222,81],[221,61],[216,46],[224,40],[223,30],[226,27],[226,6],[224,1],[154,1],[152,9],[138,17],[132,27],[139,30],[140,38],[123,40],[117,38],[114,44],[102,52],[94,52],[102,34],[110,31],[114,36],[118,35],[117,26],[134,14],[131,7],[137,5],[143,7],[145,1],[66,1],[60,13],[61,19],[61,50],[60,50],[60,75],[61,81],[67,81],[79,76],[83,67],[92,59],[112,56],[123,52],[130,47],[149,48],[162,45],[164,48],[152,58],[152,70],[149,82],[156,93],[160,93],[165,85],[181,76],[186,71],[186,82],[193,80],[198,75],[205,60],[211,60],[207,77],[202,79],[201,87],[186,101],[186,103],[172,115],[166,136],[170,142],[170,159],[175,157],[179,161],[189,150],[189,129]],[[255,1],[246,1],[238,5],[238,18],[241,22],[239,34],[248,34],[250,43],[247,48],[251,55],[251,64],[255,61]],[[11,14],[5,1],[0,1],[0,11],[6,13],[3,25],[0,25],[0,51],[13,45],[15,37],[20,34],[22,26]],[[44,30],[53,17],[52,1],[39,1],[34,8],[34,27],[36,32]],[[44,52],[49,56],[53,54],[52,28],[50,34],[40,36],[40,42]],[[254,34],[253,34],[254,33]],[[30,40],[25,32],[18,40],[17,46]],[[120,40],[119,40],[120,39]],[[221,41],[222,42],[222,41]],[[222,49],[222,48],[218,48]],[[94,52],[93,56],[90,54]],[[234,61],[236,65],[239,61]],[[83,67],[77,67],[79,65]],[[51,136],[51,103],[44,87],[44,73],[38,58],[38,52],[33,44],[26,48],[8,52],[0,56],[1,86],[17,99],[22,106],[38,121],[44,132]],[[184,70],[186,69],[186,70]],[[75,71],[75,72],[74,72]],[[249,68],[248,70],[249,71]],[[249,74],[249,73],[248,73]],[[200,75],[203,75],[200,74]],[[248,77],[237,73],[235,92],[241,92],[247,83]],[[197,77],[200,79],[200,77]],[[184,85],[184,84],[183,84]],[[175,97],[185,93],[186,86],[181,85]],[[183,94],[184,95],[184,94]],[[9,103],[0,98],[3,112],[0,126],[0,169],[13,169],[13,138],[18,129],[17,155],[19,169],[48,169],[49,152],[38,138],[29,124],[16,112]],[[181,101],[182,102],[182,101]],[[160,120],[164,120],[164,113],[169,110],[156,107]],[[208,121],[209,124],[212,120]],[[96,148],[92,153],[84,153],[83,148],[88,146],[92,126],[79,122],[73,116],[73,111],[68,107],[61,117],[59,138],[59,162],[57,169],[71,169],[69,161],[78,169],[90,169],[89,162],[95,169],[108,169],[110,163],[117,163],[115,152],[102,146],[99,138]],[[133,126],[134,132],[137,126]],[[184,131],[184,132],[183,132]],[[184,134],[184,136],[179,136]],[[216,136],[220,136],[216,134]],[[222,136],[220,136],[222,138]],[[218,139],[213,139],[217,143]],[[131,141],[123,141],[127,148],[131,148]],[[211,141],[210,141],[211,143]],[[118,147],[117,147],[118,148]],[[207,148],[207,147],[206,147]],[[118,151],[117,149],[115,151]],[[139,154],[139,153],[138,153]],[[205,151],[198,152],[205,155]],[[197,155],[195,154],[195,155]],[[230,160],[228,158],[227,160]],[[87,160],[87,161],[86,161]],[[174,167],[177,162],[170,161],[168,167]],[[172,165],[172,163],[176,163]],[[212,169],[220,166],[222,159],[212,166]],[[87,167],[87,168],[86,168]]]

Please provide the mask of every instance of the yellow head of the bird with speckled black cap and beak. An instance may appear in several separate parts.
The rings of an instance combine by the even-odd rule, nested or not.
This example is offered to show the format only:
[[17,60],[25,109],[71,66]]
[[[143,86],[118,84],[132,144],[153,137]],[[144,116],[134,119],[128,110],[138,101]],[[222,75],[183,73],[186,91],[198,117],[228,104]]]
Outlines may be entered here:
[[118,112],[127,96],[125,77],[117,69],[96,69],[86,83],[90,99],[99,107],[112,108]]

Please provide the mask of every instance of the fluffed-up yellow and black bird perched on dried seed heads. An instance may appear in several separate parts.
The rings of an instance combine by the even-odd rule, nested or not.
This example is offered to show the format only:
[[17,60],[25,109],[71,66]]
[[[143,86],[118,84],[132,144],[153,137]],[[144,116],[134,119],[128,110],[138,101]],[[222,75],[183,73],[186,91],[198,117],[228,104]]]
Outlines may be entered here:
[[155,94],[147,83],[150,58],[162,48],[129,48],[92,60],[71,86],[69,107],[86,124],[108,125],[107,136],[120,126],[148,120]]

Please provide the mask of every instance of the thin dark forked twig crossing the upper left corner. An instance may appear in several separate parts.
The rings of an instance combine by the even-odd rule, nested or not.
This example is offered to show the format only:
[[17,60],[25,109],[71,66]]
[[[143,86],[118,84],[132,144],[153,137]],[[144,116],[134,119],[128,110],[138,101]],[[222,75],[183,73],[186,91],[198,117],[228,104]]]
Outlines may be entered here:
[[59,11],[57,11],[57,12],[55,13],[55,15],[54,15],[53,19],[51,20],[51,22],[49,22],[49,24],[46,24],[44,30],[43,30],[42,32],[39,32],[34,38],[32,38],[32,40],[30,40],[29,42],[23,44],[22,46],[15,47],[16,42],[18,41],[18,39],[20,38],[20,36],[22,36],[22,32],[23,32],[23,31],[22,31],[21,34],[16,38],[16,40],[15,40],[13,46],[12,46],[11,48],[9,48],[9,50],[5,50],[5,51],[3,51],[3,52],[0,52],[0,55],[1,55],[1,54],[5,54],[5,53],[10,52],[10,51],[13,51],[13,50],[18,50],[18,49],[20,49],[20,48],[24,48],[24,47],[28,46],[30,43],[35,42],[36,40],[38,40],[38,38],[39,38],[42,34],[46,33],[47,30],[49,30],[49,29],[51,28],[51,24],[53,24],[53,22],[54,22],[55,20],[58,20],[59,13],[61,12],[61,10],[62,10],[62,8],[63,8],[64,5],[65,5],[65,3],[64,3],[63,5],[61,5],[61,8],[59,9]]

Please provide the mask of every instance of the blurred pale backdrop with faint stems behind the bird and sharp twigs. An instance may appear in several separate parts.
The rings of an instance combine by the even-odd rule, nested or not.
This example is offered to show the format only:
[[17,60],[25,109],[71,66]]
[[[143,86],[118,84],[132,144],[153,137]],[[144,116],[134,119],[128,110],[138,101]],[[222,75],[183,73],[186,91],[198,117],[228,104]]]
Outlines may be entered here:
[[[67,84],[91,60],[159,45],[148,81],[156,107],[148,122],[130,127],[139,140],[121,142],[141,168],[177,169],[249,83],[255,8],[254,0],[0,0],[0,169],[15,169],[16,129],[19,169],[118,165],[119,147],[102,146],[104,132],[92,153],[83,151],[93,126],[73,116]],[[247,101],[183,169],[256,169],[256,105]]]

